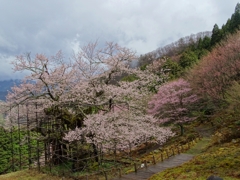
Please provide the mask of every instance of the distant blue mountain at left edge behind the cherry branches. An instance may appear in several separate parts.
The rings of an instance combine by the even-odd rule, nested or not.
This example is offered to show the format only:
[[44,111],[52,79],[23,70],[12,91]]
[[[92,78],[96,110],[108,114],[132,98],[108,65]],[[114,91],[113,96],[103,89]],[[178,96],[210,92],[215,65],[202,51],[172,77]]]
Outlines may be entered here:
[[14,84],[19,85],[21,83],[20,80],[4,80],[0,81],[0,100],[5,101],[6,100],[6,95],[8,91],[11,90],[11,87],[14,86]]

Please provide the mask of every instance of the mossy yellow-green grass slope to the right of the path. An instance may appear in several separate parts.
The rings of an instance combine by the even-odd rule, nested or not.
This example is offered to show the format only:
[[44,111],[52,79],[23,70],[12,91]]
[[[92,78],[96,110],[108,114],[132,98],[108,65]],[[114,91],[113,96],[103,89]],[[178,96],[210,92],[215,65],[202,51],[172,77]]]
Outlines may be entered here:
[[210,175],[224,180],[240,179],[240,139],[212,145],[211,139],[205,137],[187,153],[196,156],[179,167],[153,175],[150,180],[206,180]]

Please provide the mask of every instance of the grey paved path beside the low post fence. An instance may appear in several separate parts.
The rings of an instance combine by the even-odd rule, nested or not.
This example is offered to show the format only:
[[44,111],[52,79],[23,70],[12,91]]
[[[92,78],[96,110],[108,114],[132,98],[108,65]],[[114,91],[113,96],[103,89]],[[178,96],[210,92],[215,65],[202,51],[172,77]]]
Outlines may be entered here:
[[151,165],[148,168],[142,168],[137,173],[129,173],[123,175],[121,178],[114,178],[113,180],[146,180],[153,174],[161,172],[167,168],[179,166],[193,158],[190,154],[179,154],[172,156],[169,159],[165,159],[163,162],[159,162],[155,165]]

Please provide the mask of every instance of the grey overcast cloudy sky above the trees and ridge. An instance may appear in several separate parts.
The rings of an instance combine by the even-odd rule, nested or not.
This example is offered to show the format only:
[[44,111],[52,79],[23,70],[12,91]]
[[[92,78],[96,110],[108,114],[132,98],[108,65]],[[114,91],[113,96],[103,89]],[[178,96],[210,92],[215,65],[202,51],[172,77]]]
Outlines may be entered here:
[[90,41],[114,41],[144,54],[220,27],[238,0],[0,0],[0,80],[31,52],[65,57]]

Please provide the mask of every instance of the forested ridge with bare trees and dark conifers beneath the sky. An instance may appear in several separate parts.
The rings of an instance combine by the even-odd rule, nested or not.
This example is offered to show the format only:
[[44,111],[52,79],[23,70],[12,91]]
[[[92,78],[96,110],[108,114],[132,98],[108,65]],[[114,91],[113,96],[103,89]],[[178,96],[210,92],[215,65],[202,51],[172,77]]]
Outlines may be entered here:
[[[145,55],[141,55],[138,65],[145,69],[152,64],[154,72],[168,72],[171,79],[183,76],[189,68],[199,62],[211,50],[219,45],[229,35],[236,33],[240,25],[240,4],[237,4],[235,11],[226,24],[220,28],[217,24],[212,31],[200,32],[180,38],[165,47],[158,48]],[[151,65],[150,65],[151,66]]]

